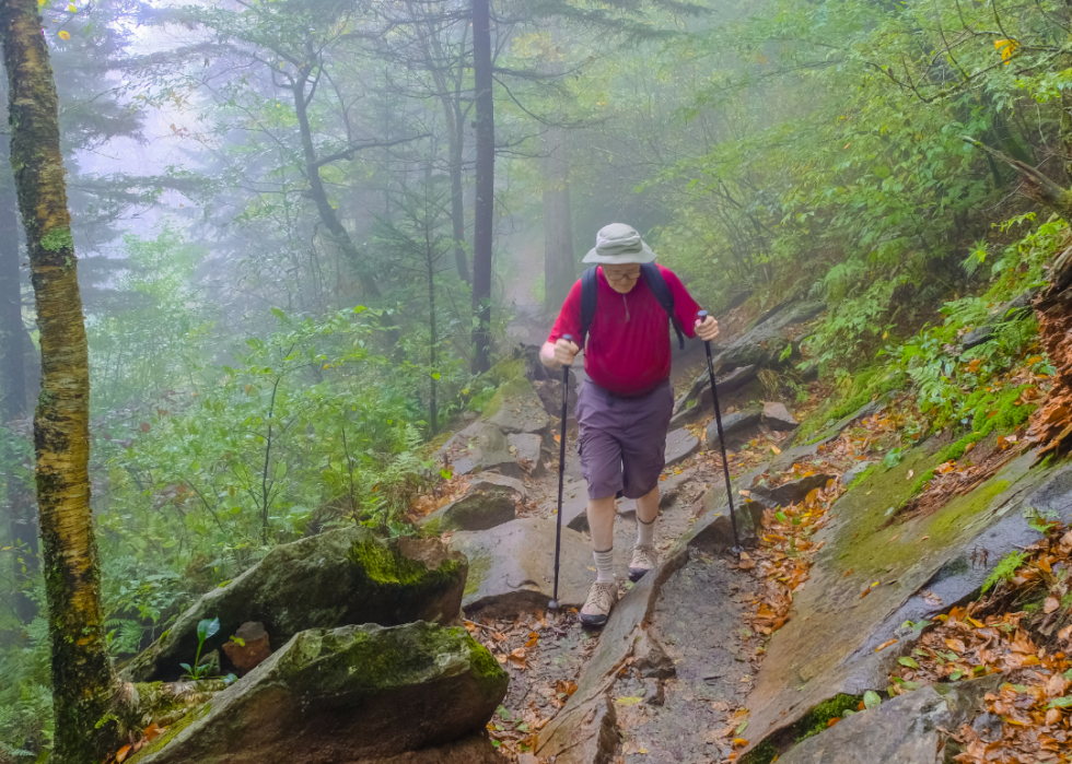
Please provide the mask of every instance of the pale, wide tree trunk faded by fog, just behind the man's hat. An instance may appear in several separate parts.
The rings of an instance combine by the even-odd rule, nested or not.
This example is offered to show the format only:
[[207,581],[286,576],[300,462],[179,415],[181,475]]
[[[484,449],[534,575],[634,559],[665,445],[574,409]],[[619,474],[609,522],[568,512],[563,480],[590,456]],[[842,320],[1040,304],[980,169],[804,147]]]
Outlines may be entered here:
[[562,128],[544,133],[544,309],[548,314],[558,313],[576,281],[567,140]]

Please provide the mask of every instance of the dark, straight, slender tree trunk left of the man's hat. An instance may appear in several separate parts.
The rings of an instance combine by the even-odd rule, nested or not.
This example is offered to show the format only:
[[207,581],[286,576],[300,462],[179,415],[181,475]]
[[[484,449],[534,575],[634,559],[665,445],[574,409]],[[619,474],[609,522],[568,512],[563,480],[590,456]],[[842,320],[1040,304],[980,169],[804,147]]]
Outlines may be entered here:
[[491,73],[491,3],[473,0],[476,94],[476,208],[473,223],[473,373],[491,368],[491,243],[494,224],[496,115]]

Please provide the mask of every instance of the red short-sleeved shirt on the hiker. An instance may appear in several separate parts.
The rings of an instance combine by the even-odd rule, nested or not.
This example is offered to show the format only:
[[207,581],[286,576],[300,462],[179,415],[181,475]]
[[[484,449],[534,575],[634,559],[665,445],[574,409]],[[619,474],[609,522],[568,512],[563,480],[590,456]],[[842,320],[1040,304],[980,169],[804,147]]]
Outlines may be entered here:
[[[674,313],[687,337],[696,337],[700,306],[673,271],[659,266],[674,295]],[[587,342],[581,342],[581,282],[573,284],[548,342],[563,334],[584,348],[584,371],[599,387],[624,398],[645,395],[669,378],[669,317],[641,277],[627,294],[615,292],[603,268],[596,271],[597,298]]]

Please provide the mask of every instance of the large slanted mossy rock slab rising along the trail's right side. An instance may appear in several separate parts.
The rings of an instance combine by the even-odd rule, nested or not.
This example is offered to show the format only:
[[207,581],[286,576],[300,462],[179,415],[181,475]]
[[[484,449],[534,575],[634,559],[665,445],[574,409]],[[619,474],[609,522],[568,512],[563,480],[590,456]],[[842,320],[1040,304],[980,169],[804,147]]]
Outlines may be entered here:
[[[890,522],[890,508],[911,493],[909,471],[936,466],[932,448],[913,449],[834,505],[834,521],[815,537],[825,545],[811,579],[795,593],[790,621],[771,637],[748,697],[753,745],[839,692],[884,690],[889,669],[911,647],[905,621],[933,618],[970,596],[1002,556],[1039,538],[1023,517],[1025,507],[1052,509],[1069,521],[1072,467],[1032,470],[1027,454],[940,510]],[[989,565],[972,562],[976,548],[989,551]],[[945,604],[920,596],[924,588]],[[899,642],[876,653],[890,638]]]

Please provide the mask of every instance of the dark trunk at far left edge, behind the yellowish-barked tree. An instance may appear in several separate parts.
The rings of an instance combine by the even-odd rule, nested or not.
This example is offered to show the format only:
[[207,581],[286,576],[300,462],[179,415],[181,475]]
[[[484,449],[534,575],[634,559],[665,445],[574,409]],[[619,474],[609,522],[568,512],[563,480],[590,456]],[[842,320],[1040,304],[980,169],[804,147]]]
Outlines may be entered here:
[[[9,178],[8,183],[12,180]],[[0,424],[25,419],[30,410],[26,393],[26,329],[22,324],[22,278],[19,272],[19,214],[15,209],[14,186],[0,192]],[[7,485],[9,543],[22,542],[27,554],[14,561],[13,579],[32,580],[37,575],[37,520],[34,517],[34,496],[19,475],[14,459],[9,459],[3,473]],[[23,567],[26,572],[23,573]],[[37,606],[20,588],[14,592],[14,608],[23,623],[37,614]]]

